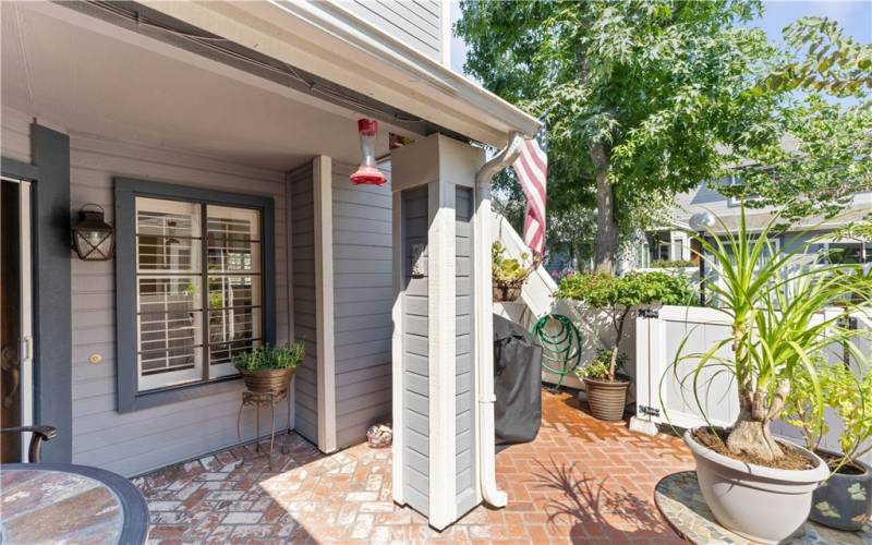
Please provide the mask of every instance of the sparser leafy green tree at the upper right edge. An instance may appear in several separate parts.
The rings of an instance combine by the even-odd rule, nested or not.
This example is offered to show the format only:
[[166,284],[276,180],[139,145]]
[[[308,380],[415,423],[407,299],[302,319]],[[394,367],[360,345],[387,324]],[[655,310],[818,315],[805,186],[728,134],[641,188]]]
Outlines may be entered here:
[[825,17],[802,17],[785,28],[784,38],[787,57],[759,92],[810,95],[776,114],[786,145],[771,143],[735,157],[744,165],[739,183],[718,191],[755,195],[750,207],[780,208],[791,220],[832,217],[855,193],[872,190],[872,45],[857,43]]

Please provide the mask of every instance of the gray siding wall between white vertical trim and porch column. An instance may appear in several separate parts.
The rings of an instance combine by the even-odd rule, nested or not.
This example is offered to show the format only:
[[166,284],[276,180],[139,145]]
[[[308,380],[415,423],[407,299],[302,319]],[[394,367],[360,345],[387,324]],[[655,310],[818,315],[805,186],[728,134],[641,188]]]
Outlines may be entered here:
[[352,185],[355,169],[332,164],[337,448],[365,440],[391,412],[391,190]]

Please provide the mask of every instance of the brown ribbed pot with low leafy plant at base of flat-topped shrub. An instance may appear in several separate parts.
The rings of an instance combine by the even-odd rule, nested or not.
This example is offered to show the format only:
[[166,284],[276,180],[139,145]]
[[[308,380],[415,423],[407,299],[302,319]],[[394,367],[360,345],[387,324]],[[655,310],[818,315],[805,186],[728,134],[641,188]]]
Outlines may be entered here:
[[588,392],[591,414],[607,422],[623,417],[630,386],[630,379],[621,374],[627,356],[619,353],[613,361],[611,354],[611,350],[600,350],[588,365],[576,367],[576,375]]

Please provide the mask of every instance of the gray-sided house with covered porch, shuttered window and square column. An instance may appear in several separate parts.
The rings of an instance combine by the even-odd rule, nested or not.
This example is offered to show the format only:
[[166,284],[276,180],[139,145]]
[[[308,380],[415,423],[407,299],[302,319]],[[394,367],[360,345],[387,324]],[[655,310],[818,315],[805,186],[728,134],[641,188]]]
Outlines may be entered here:
[[[235,444],[233,354],[301,340],[279,428],[330,452],[392,421],[395,500],[437,528],[505,505],[489,179],[538,122],[447,66],[446,9],[3,2],[3,425],[141,474]],[[383,158],[414,141],[380,187],[349,182],[362,117]],[[108,262],[70,250],[89,204]]]

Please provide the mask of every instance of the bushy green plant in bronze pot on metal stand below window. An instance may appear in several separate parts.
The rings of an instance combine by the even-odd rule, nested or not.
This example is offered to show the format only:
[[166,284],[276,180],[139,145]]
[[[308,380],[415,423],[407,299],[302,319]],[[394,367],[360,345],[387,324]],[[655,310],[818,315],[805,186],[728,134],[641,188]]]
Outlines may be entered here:
[[267,393],[286,390],[296,366],[303,361],[302,342],[281,347],[263,344],[249,352],[238,354],[233,364],[242,374],[245,387],[251,391]]

